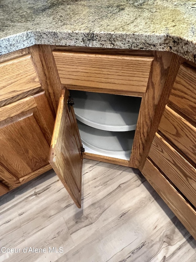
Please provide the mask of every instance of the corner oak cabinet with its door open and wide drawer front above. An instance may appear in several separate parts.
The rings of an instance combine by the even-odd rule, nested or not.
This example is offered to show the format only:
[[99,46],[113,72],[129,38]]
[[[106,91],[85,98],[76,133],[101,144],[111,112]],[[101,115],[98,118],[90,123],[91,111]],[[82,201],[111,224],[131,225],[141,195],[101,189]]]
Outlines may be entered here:
[[[49,162],[79,208],[81,207],[83,157],[139,167],[141,159],[145,157],[145,147],[152,128],[155,108],[160,100],[171,64],[171,55],[163,52],[154,53],[154,56],[152,53],[142,56],[142,52],[125,55],[120,53],[87,53],[89,49],[85,51],[55,50],[52,52],[59,80],[64,90],[62,90],[58,104]],[[115,50],[115,52],[117,51]],[[134,120],[135,135],[133,135],[132,148],[130,147],[131,154],[129,153],[127,160],[90,151],[84,152],[80,137],[81,130],[78,130],[81,123],[77,124],[74,106],[72,107],[74,103],[70,97],[73,90],[74,92],[77,90],[79,92],[119,95],[122,101],[123,96],[129,96],[130,103],[139,98],[141,105],[139,107],[137,105],[138,119]],[[111,99],[110,102],[112,103],[113,100]],[[148,119],[150,119],[149,122]],[[86,119],[85,121],[91,122],[91,124],[88,123],[91,128],[101,129],[95,126],[91,120]],[[145,125],[145,123],[147,124]],[[128,135],[130,134],[128,133]]]

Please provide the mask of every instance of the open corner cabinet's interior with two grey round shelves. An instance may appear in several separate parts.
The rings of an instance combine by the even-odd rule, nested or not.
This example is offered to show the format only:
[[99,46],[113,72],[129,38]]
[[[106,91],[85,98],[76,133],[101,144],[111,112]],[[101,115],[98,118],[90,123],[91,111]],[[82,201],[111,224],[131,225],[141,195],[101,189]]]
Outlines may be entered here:
[[141,97],[70,91],[85,152],[130,159]]

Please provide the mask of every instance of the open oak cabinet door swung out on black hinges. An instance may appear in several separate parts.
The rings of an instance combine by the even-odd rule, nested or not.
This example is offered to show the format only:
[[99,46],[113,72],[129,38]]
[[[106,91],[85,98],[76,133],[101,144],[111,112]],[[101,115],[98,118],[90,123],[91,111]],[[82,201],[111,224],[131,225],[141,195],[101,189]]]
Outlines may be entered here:
[[82,143],[66,90],[62,90],[58,104],[49,162],[77,207],[81,208]]

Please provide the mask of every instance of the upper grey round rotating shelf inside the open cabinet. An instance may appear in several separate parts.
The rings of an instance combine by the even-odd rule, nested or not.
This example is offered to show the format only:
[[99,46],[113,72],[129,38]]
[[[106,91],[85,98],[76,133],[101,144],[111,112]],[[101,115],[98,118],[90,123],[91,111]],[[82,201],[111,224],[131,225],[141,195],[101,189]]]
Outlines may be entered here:
[[90,127],[106,131],[135,130],[140,97],[71,90],[76,118]]

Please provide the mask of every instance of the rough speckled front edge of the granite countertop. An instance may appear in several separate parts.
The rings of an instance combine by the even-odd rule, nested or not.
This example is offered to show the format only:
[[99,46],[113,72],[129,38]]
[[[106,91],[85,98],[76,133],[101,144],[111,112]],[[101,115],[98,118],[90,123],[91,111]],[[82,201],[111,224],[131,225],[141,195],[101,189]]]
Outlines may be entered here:
[[0,55],[38,44],[168,51],[196,63],[196,43],[169,34],[29,30],[0,39]]

